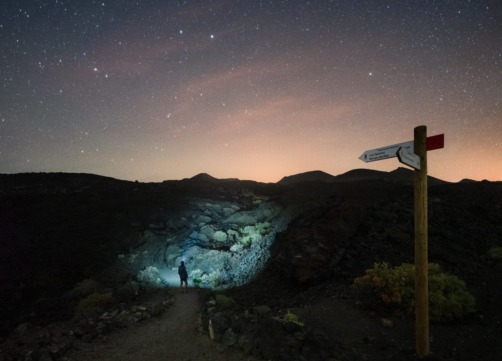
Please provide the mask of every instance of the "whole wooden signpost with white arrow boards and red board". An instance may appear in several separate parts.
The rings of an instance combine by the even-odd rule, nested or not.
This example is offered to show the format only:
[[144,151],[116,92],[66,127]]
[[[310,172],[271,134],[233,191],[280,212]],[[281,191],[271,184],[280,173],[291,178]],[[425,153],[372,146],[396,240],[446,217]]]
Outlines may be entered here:
[[[417,355],[429,355],[429,288],[427,259],[427,151],[444,147],[444,134],[427,136],[427,127],[414,129],[414,139],[367,150],[359,157],[364,162],[397,156],[415,169],[415,331]],[[413,152],[411,149],[413,148]]]

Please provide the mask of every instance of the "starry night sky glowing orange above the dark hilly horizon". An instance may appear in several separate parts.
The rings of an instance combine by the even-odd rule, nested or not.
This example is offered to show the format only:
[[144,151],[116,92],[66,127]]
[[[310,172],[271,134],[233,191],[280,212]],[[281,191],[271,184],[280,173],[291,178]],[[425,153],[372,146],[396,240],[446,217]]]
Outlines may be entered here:
[[502,180],[496,1],[3,1],[0,172],[277,182],[392,170]]

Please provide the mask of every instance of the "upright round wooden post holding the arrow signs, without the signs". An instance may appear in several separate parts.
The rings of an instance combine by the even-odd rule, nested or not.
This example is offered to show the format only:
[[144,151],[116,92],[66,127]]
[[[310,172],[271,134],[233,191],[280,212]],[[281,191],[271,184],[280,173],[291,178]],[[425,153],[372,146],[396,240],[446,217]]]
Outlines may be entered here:
[[427,127],[414,129],[414,153],[420,157],[415,169],[415,330],[417,355],[429,355],[429,289],[427,259]]

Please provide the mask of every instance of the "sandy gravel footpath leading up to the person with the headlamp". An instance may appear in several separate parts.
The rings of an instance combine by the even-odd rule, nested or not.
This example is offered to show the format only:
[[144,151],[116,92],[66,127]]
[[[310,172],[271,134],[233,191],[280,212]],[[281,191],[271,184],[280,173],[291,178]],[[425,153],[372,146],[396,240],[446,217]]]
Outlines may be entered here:
[[107,334],[68,354],[69,360],[237,361],[245,356],[237,348],[220,353],[216,342],[199,331],[199,292],[176,290],[174,304],[158,317],[138,326]]

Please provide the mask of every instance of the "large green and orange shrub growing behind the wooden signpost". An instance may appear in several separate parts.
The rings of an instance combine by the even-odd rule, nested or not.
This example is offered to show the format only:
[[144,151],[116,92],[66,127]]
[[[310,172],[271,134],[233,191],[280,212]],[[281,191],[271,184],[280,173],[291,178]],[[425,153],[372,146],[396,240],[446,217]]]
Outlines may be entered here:
[[[393,269],[385,262],[375,263],[366,275],[354,279],[352,289],[365,306],[402,306],[414,312],[415,266],[403,263]],[[465,283],[442,272],[438,264],[429,263],[429,319],[449,321],[474,311],[473,307],[474,297],[465,289]]]

